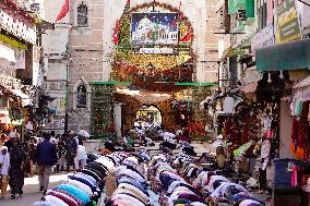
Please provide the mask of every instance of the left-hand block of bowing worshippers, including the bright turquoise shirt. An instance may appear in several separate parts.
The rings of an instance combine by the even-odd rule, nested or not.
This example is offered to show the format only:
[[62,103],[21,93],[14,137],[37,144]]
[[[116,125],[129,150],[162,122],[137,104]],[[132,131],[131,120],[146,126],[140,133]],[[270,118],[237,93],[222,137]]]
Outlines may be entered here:
[[47,191],[33,206],[147,206],[143,163],[147,159],[146,153],[92,155],[93,161],[85,169]]

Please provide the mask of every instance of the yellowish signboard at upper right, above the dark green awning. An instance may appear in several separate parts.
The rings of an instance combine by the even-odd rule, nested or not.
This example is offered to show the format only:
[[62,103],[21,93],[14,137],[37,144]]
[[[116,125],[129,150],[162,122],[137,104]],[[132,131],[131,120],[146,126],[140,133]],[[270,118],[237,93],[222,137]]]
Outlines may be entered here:
[[276,8],[276,43],[300,40],[301,33],[295,0],[284,0]]

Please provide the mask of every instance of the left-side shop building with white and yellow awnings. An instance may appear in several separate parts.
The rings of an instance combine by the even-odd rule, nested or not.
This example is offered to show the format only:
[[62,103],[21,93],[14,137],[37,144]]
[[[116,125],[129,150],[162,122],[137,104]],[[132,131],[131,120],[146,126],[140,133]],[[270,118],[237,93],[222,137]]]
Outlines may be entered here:
[[17,1],[0,1],[0,126],[24,138],[36,123],[33,106],[41,85],[36,23],[41,19]]

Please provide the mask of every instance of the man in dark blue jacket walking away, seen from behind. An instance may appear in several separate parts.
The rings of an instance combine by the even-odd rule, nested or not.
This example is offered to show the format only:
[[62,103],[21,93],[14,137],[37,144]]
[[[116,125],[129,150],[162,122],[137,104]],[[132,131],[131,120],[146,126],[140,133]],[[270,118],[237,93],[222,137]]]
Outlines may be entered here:
[[46,192],[51,174],[51,168],[57,162],[57,150],[56,145],[50,142],[50,135],[44,133],[43,136],[44,141],[37,145],[35,161],[38,165],[39,191]]

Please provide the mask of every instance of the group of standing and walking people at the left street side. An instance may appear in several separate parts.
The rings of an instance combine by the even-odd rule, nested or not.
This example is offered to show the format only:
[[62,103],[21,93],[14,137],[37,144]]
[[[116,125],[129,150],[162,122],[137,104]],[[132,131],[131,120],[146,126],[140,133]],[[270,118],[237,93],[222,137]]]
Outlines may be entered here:
[[[17,133],[2,132],[0,140],[0,191],[5,198],[10,185],[11,198],[23,196],[24,179],[38,174],[39,191],[46,193],[49,177],[55,171],[69,172],[86,165],[83,136],[74,132],[55,135],[55,132],[33,134],[23,143]],[[71,167],[73,166],[73,168]],[[53,170],[55,168],[55,170]],[[72,169],[71,169],[72,168]]]

